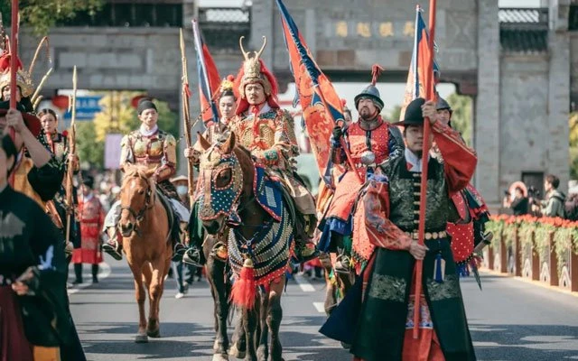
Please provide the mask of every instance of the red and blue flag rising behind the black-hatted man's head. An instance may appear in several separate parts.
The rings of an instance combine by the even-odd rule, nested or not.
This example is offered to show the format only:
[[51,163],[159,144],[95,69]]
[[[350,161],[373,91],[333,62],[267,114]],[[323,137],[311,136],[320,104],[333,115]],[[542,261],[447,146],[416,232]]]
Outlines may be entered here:
[[[412,100],[416,97],[426,98],[425,69],[427,69],[427,62],[430,60],[432,51],[429,48],[428,40],[429,34],[427,33],[427,27],[425,26],[424,18],[422,17],[422,8],[420,5],[417,5],[415,8],[414,52],[412,55],[412,63],[409,66],[409,72],[407,73],[406,93],[399,120],[404,119],[406,107]],[[438,75],[439,68],[435,60],[433,60],[434,82],[435,79],[438,78]]]

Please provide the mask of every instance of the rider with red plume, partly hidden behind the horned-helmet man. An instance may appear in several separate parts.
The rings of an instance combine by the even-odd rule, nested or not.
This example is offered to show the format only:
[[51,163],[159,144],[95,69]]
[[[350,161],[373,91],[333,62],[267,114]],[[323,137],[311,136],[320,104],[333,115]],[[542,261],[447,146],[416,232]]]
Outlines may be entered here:
[[[235,77],[228,75],[226,79],[220,83],[219,86],[219,123],[210,122],[207,126],[207,130],[203,134],[205,139],[209,143],[217,143],[220,139],[227,139],[231,119],[235,117],[235,108],[237,107],[234,92],[234,80]],[[200,153],[202,153],[202,147],[199,142],[195,142],[191,148],[185,148],[184,156],[192,162],[192,165],[198,169],[200,161]],[[204,240],[204,230],[199,218],[199,203],[195,202],[191,209],[191,218],[189,219],[189,236],[190,238],[190,248],[187,250],[187,254],[184,257],[186,263],[191,264],[200,268],[204,263],[204,257],[201,255],[202,243]],[[223,239],[227,239],[227,230],[225,234],[222,235]],[[218,242],[215,244],[214,249],[215,255],[221,260],[227,259],[227,247]]]

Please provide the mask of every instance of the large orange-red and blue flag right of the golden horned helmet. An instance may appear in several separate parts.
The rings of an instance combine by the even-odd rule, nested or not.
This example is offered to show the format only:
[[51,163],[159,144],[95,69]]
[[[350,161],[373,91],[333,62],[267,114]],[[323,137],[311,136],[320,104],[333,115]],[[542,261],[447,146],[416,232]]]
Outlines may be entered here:
[[303,108],[303,123],[320,175],[323,176],[330,158],[331,131],[335,122],[343,121],[341,100],[331,81],[313,60],[287,8],[281,0],[275,1],[281,13],[285,45],[295,79],[294,106],[300,103]]

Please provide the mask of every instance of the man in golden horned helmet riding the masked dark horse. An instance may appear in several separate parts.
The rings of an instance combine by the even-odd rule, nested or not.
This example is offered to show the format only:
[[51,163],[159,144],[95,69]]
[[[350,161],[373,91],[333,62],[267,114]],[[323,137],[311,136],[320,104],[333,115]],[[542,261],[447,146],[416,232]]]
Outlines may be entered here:
[[295,235],[295,255],[300,261],[305,261],[317,255],[314,247],[306,245],[313,236],[317,218],[315,200],[303,181],[299,180],[294,168],[294,158],[299,155],[294,119],[289,112],[279,108],[275,77],[259,59],[265,50],[266,39],[253,57],[243,49],[242,39],[239,44],[245,61],[236,78],[239,99],[236,117],[229,127],[256,163],[282,180],[294,200],[297,211],[295,228],[298,231]]

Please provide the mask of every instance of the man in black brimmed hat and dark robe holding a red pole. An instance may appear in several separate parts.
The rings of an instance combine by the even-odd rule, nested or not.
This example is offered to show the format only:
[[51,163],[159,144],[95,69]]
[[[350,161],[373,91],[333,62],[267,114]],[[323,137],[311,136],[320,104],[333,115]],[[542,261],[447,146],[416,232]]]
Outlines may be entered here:
[[[417,242],[424,117],[444,162],[427,156],[428,185],[424,245]],[[379,166],[362,200],[364,224],[375,251],[363,273],[363,303],[350,352],[356,360],[475,360],[463,308],[448,221],[458,218],[451,196],[475,171],[476,155],[460,134],[439,120],[433,101],[412,101],[403,122],[404,156]],[[431,140],[430,140],[431,141]],[[415,280],[415,260],[423,279]],[[415,295],[415,282],[423,293]],[[415,297],[420,298],[419,338],[413,338]]]

